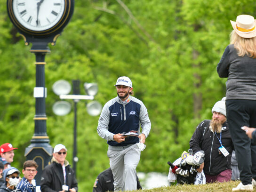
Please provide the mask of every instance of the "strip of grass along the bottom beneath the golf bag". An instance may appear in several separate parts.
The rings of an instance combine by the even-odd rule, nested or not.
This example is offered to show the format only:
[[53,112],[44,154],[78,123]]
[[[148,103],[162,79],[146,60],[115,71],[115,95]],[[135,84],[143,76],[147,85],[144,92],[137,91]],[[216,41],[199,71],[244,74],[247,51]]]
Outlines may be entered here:
[[[231,181],[226,183],[214,183],[203,185],[171,185],[154,189],[135,190],[129,192],[231,192],[240,181]],[[256,191],[256,189],[254,190]],[[128,191],[127,191],[128,192]]]

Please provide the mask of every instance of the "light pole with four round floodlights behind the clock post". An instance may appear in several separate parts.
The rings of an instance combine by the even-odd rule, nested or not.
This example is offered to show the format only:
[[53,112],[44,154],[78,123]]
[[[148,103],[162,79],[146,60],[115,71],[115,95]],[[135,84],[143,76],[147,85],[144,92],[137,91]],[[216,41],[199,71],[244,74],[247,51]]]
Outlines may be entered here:
[[[68,95],[71,91],[71,85],[66,80],[58,80],[53,84],[53,91],[59,95],[61,99],[72,99],[74,102],[74,133],[73,133],[73,170],[76,174],[77,157],[77,103],[80,100],[93,100],[98,92],[96,83],[84,83],[84,88],[88,95],[80,95],[80,80],[72,80],[73,95]],[[87,112],[91,116],[99,115],[102,106],[97,101],[87,104]],[[56,115],[66,115],[71,111],[71,104],[66,101],[57,101],[53,105],[53,112]]]

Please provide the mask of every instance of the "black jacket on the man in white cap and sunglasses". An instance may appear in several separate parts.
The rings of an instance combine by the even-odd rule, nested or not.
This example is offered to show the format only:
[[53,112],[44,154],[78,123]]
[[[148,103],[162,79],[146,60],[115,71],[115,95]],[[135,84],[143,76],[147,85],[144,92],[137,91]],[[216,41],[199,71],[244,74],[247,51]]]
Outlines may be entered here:
[[[66,184],[69,189],[75,188],[78,192],[77,180],[73,169],[65,160],[66,168]],[[59,192],[62,191],[62,185],[64,185],[63,170],[60,163],[57,163],[53,158],[52,164],[46,166],[42,171],[41,176],[41,192]]]

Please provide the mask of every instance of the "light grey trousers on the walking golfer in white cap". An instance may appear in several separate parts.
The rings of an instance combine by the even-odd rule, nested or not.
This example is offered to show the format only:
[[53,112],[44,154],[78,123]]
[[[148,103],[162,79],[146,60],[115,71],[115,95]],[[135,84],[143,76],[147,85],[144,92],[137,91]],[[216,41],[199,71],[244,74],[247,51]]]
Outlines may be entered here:
[[114,176],[114,191],[136,190],[136,167],[140,161],[137,144],[109,146],[107,155]]

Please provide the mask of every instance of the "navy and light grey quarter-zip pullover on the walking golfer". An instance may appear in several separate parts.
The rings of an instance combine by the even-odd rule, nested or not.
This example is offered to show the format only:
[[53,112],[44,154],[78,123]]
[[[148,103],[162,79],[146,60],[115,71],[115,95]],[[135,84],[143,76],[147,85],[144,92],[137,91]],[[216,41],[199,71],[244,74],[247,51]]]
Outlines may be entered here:
[[135,130],[147,137],[151,129],[151,122],[145,105],[139,99],[129,96],[122,101],[118,96],[108,101],[101,112],[97,132],[98,135],[107,140],[112,146],[123,146],[138,143],[137,137],[128,138],[127,141],[117,143],[113,136],[118,133]]

